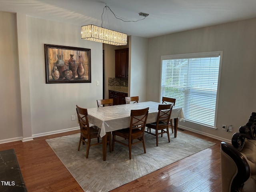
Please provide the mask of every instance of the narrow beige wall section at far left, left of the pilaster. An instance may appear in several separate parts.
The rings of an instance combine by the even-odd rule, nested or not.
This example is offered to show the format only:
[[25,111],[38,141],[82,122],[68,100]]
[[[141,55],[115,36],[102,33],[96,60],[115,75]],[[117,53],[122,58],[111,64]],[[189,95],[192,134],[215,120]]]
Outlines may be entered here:
[[0,140],[21,140],[21,102],[16,15],[0,12]]

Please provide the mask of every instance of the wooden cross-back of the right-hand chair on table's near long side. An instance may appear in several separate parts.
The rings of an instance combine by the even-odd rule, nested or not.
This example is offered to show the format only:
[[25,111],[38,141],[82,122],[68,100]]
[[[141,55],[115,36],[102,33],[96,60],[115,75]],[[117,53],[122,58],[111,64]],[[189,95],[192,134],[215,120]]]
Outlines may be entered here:
[[158,105],[158,116],[157,116],[157,124],[162,121],[168,124],[170,122],[170,117],[172,114],[172,106],[173,104],[162,104]]

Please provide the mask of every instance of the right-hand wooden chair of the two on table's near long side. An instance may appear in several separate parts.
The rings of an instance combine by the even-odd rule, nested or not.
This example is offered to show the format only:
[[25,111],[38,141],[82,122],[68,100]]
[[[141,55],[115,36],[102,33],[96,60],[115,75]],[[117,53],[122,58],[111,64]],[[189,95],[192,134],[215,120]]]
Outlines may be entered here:
[[[158,146],[158,135],[161,134],[162,137],[164,133],[167,134],[168,142],[170,143],[169,122],[172,114],[172,106],[172,104],[158,105],[158,115],[156,122],[146,124],[146,127],[149,128],[149,131],[145,132],[156,136],[156,146]],[[151,129],[154,129],[155,133],[151,132]],[[158,132],[159,130],[161,132]]]

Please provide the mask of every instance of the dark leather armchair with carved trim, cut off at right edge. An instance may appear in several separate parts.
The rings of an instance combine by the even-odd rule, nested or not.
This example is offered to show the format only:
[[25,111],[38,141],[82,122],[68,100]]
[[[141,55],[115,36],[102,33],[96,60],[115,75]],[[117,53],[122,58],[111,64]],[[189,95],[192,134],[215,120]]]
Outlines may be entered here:
[[232,145],[221,142],[222,192],[256,192],[256,113],[239,133]]

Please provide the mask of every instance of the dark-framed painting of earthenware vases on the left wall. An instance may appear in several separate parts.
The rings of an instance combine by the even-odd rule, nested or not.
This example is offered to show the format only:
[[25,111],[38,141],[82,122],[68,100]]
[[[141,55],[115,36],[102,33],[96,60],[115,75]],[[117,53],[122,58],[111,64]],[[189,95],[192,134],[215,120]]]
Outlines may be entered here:
[[91,83],[91,50],[44,44],[46,83]]

